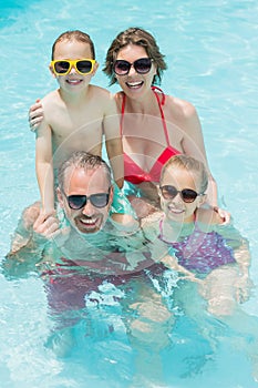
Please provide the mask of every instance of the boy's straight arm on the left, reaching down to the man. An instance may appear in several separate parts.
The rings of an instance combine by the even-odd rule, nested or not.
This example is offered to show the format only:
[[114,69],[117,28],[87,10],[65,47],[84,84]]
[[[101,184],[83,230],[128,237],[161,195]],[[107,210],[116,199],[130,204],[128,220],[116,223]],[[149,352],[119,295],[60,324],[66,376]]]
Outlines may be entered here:
[[40,188],[42,210],[40,217],[54,213],[54,177],[52,164],[52,131],[43,120],[37,131],[35,171]]

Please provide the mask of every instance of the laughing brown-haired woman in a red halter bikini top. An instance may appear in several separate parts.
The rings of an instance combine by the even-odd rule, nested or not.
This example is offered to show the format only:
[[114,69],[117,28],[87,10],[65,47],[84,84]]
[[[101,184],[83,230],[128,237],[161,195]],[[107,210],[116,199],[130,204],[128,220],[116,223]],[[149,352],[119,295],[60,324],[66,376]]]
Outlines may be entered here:
[[[165,95],[155,86],[161,83],[165,69],[164,55],[154,37],[141,28],[118,33],[107,51],[103,69],[110,84],[117,82],[122,88],[114,98],[121,113],[127,193],[145,196],[155,205],[161,170],[169,157],[187,154],[203,161],[208,170],[195,108],[187,101]],[[32,127],[42,115],[40,108],[38,103],[30,110]],[[210,173],[207,202],[217,206],[217,186]],[[219,213],[229,219],[227,212]]]

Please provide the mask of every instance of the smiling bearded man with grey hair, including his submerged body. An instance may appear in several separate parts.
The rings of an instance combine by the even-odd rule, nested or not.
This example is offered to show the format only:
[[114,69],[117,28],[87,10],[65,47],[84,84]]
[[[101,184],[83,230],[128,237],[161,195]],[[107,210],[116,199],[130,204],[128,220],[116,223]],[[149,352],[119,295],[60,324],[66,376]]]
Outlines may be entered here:
[[[169,344],[168,327],[174,319],[153,284],[159,290],[159,282],[164,286],[169,279],[163,278],[164,268],[151,258],[141,229],[110,216],[113,200],[110,167],[100,156],[73,153],[59,169],[56,195],[58,218],[49,216],[33,229],[40,204],[23,212],[3,263],[6,276],[22,276],[28,270],[40,273],[58,328],[50,345],[58,344],[59,355],[71,349],[65,344],[71,339],[71,326],[82,319],[80,312],[84,316],[99,312],[103,319],[105,308],[118,303],[121,317],[103,313],[107,317],[107,333],[115,331],[118,319],[137,350],[137,367],[149,367],[151,351],[154,371],[161,363],[159,350]],[[161,247],[158,255],[163,254]]]

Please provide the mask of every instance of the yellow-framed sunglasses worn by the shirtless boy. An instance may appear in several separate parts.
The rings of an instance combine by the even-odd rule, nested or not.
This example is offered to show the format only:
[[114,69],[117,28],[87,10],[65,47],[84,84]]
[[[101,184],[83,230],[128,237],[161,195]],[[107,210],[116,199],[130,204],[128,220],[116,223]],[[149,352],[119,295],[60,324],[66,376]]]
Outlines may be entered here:
[[93,65],[96,61],[94,59],[76,59],[72,60],[56,60],[51,61],[50,65],[55,75],[66,75],[72,67],[75,68],[79,74],[85,75],[93,71]]

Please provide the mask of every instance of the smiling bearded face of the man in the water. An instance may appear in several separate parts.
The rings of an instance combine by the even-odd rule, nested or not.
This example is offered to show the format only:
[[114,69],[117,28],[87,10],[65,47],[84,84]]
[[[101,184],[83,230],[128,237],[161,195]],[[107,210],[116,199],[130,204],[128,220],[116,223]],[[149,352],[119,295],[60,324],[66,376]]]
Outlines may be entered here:
[[[70,167],[64,181],[63,192],[58,188],[58,197],[70,224],[82,234],[92,234],[102,229],[113,201],[113,187],[111,187],[105,169],[103,166],[93,170]],[[94,194],[109,193],[107,197],[105,195],[94,196]],[[73,197],[69,201],[71,195]],[[74,197],[74,195],[86,196],[86,203],[83,204],[85,197]],[[92,201],[91,195],[93,195]],[[80,202],[83,204],[81,208],[71,208],[71,206],[76,207],[78,204],[81,206]],[[101,204],[102,207],[95,206],[94,203]]]

